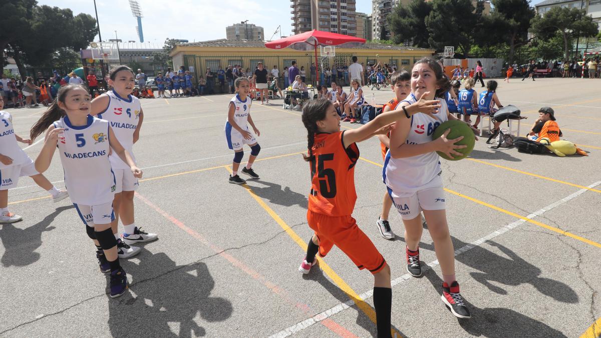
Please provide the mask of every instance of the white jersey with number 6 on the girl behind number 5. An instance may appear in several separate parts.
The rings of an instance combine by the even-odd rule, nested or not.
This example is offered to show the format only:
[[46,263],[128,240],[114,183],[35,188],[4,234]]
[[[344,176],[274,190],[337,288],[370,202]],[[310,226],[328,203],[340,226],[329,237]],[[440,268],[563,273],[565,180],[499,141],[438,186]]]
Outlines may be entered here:
[[[106,94],[109,96],[109,105],[105,111],[98,114],[98,117],[109,121],[115,137],[135,161],[133,132],[138,127],[138,115],[142,111],[140,100],[133,95],[128,95],[127,98],[121,97],[114,90],[108,91]],[[123,162],[115,152],[111,153],[109,159],[111,159],[114,169],[130,169],[129,165]]]

